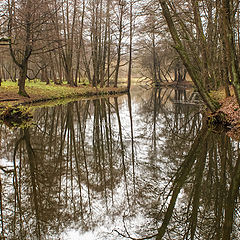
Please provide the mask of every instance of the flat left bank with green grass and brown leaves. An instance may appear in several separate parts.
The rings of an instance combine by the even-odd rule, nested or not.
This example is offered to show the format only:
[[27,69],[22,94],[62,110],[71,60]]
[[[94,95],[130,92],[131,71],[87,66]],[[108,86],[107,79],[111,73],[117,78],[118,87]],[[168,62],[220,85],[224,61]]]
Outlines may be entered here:
[[16,106],[20,104],[31,104],[57,99],[90,97],[99,95],[112,95],[127,92],[126,87],[91,87],[90,85],[80,85],[70,87],[67,84],[46,85],[43,82],[26,82],[26,92],[30,98],[18,95],[18,86],[14,82],[2,82],[0,86],[0,108],[6,106]]

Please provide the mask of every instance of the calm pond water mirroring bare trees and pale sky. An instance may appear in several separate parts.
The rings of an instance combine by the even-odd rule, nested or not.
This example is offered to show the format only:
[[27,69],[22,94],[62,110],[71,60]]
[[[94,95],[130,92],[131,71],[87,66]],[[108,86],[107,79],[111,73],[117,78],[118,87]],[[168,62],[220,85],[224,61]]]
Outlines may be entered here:
[[0,238],[239,239],[239,142],[191,94],[136,88],[0,125]]

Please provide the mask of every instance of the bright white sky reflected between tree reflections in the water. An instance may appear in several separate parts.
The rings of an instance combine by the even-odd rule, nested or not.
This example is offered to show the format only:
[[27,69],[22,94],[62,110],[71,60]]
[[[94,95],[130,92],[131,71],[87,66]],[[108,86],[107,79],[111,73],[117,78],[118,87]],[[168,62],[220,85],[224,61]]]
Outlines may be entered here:
[[[153,178],[151,172],[149,172],[149,169],[152,168],[152,163],[149,163],[149,153],[151,152],[152,148],[152,131],[153,131],[153,125],[152,125],[152,112],[153,112],[153,102],[149,103],[149,94],[151,94],[151,91],[143,91],[140,90],[137,93],[135,92],[132,95],[132,120],[133,120],[133,135],[134,135],[134,153],[135,153],[135,178],[136,178],[136,186],[135,188],[138,188],[137,192],[140,191],[139,189],[143,188],[145,191],[145,185],[148,185],[149,187],[149,193],[146,191],[144,194],[148,196],[148,199],[146,200],[146,204],[151,203],[152,197],[155,197],[155,193],[152,193],[151,187],[154,184],[158,184],[158,187],[160,185],[165,184],[165,181],[162,182],[156,182],[156,180]],[[113,134],[115,135],[115,139],[119,142],[119,133],[118,133],[118,119],[116,116],[116,109],[114,105],[114,100],[111,99],[111,111],[112,111],[112,130]],[[128,106],[128,99],[127,96],[121,96],[118,98],[118,106],[119,106],[119,114],[120,114],[120,120],[121,120],[121,128],[122,128],[122,134],[123,134],[123,142],[125,147],[124,157],[127,162],[131,163],[131,125],[130,125],[130,113],[129,113],[129,106]],[[172,109],[172,105],[170,103],[167,103],[165,106],[166,108]],[[92,107],[93,110],[93,107]],[[86,122],[86,142],[88,145],[92,144],[93,141],[93,124],[94,124],[94,118],[93,118],[93,111],[91,112],[91,115],[88,116],[87,122]],[[170,113],[171,114],[171,113]],[[160,117],[157,117],[157,132],[161,132],[161,129],[167,128],[165,126],[165,118],[160,114]],[[45,126],[44,125],[38,125],[38,128],[41,129],[41,131],[44,131]],[[74,126],[75,131],[77,131],[78,126]],[[162,145],[164,144],[166,140],[166,137],[164,135],[159,134],[157,138],[157,147],[158,152],[162,150]],[[118,151],[120,151],[120,145],[118,146]],[[88,149],[86,150],[88,152]],[[67,153],[67,148],[63,149],[63,152]],[[164,156],[162,156],[162,160],[165,159]],[[167,159],[166,159],[167,160]],[[9,161],[11,162],[11,160]],[[155,166],[156,174],[159,174],[159,169],[162,170],[166,166],[164,162],[156,162]],[[5,163],[4,163],[5,164]],[[7,163],[6,163],[7,165]],[[81,240],[98,240],[98,239],[118,239],[121,238],[117,234],[117,232],[114,232],[114,230],[118,230],[119,232],[124,232],[124,224],[126,224],[127,229],[129,230],[129,233],[136,237],[136,232],[138,232],[139,229],[141,229],[141,226],[146,225],[149,222],[149,226],[152,226],[150,223],[152,220],[151,218],[148,218],[145,216],[145,213],[143,212],[144,204],[141,203],[141,199],[138,199],[138,196],[134,196],[134,187],[132,183],[132,165],[129,164],[127,169],[127,181],[129,186],[126,190],[126,183],[124,183],[124,179],[122,179],[121,182],[118,183],[117,186],[114,187],[114,200],[113,203],[108,202],[108,207],[106,207],[105,201],[102,198],[101,193],[94,193],[93,199],[91,199],[91,212],[93,214],[93,218],[98,219],[97,223],[94,223],[94,226],[89,226],[91,230],[87,232],[82,232],[80,229],[81,223],[77,221],[73,221],[72,224],[70,224],[69,227],[65,229],[65,231],[61,234],[62,240],[72,240],[72,239],[81,239]],[[144,177],[143,177],[144,175]],[[123,177],[122,177],[123,178]],[[10,180],[10,179],[9,179]],[[74,180],[75,181],[75,180]],[[70,185],[69,179],[62,179],[62,185]],[[160,185],[159,185],[160,184]],[[126,191],[128,191],[128,197],[126,195]],[[78,194],[78,189],[74,189],[74,194]],[[82,194],[83,198],[88,198],[87,196],[87,187],[83,186],[82,188]],[[109,192],[107,193],[110,194]],[[137,193],[141,195],[141,192]],[[61,193],[63,196],[64,194]],[[156,193],[157,195],[157,193]],[[141,196],[142,197],[142,196]],[[89,214],[89,212],[87,213]],[[124,215],[126,215],[124,217]],[[86,217],[87,219],[88,217]],[[53,223],[52,223],[53,224]],[[91,225],[91,223],[89,223]],[[72,226],[71,226],[72,225]],[[79,225],[79,226],[78,226]],[[146,229],[148,227],[146,226]],[[138,236],[138,235],[137,235]],[[141,236],[141,235],[140,235]],[[52,235],[53,237],[53,235]],[[53,237],[55,239],[55,237]],[[58,237],[56,236],[56,239]]]

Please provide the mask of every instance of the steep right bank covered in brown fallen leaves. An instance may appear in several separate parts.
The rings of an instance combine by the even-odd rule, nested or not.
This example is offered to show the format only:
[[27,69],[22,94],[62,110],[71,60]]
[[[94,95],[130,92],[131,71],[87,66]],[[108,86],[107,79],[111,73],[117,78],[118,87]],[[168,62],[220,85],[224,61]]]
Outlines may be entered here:
[[[225,98],[224,90],[213,92],[212,95],[221,104],[220,109],[213,116],[224,116],[223,125],[227,130],[227,135],[235,140],[240,140],[240,107],[237,99],[234,96],[233,88],[231,90],[231,97]],[[221,119],[220,119],[221,121]]]

